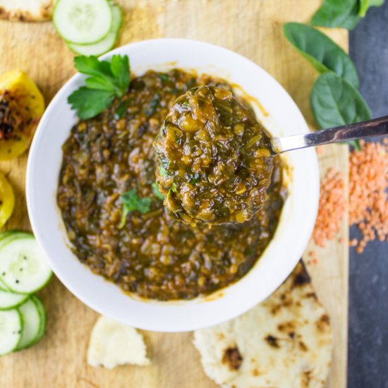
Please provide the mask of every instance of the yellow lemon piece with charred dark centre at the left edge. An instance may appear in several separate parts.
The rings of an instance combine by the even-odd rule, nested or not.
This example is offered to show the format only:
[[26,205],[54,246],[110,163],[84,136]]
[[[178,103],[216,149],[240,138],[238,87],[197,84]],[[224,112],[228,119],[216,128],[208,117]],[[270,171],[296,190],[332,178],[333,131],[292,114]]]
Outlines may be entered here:
[[23,71],[0,76],[0,159],[12,159],[30,146],[44,111],[42,93]]

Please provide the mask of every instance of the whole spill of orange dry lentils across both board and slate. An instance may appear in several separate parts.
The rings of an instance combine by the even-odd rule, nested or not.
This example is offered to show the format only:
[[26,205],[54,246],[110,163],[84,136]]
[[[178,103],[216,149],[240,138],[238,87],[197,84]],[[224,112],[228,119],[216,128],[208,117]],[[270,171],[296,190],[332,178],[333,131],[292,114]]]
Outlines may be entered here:
[[[353,150],[349,158],[349,224],[357,225],[362,238],[349,245],[363,252],[368,241],[388,241],[388,138],[381,143],[360,141],[362,150]],[[316,245],[325,247],[335,238],[344,217],[344,179],[329,169],[322,179],[320,205],[313,231]],[[344,238],[339,237],[339,242]],[[316,253],[309,256],[316,260]]]

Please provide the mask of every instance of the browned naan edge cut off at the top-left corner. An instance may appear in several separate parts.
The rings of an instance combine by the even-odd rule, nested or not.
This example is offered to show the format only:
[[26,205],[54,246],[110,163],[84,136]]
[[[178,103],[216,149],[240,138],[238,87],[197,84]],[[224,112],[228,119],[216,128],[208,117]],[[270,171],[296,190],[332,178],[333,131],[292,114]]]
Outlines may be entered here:
[[0,19],[41,22],[51,19],[54,0],[0,0]]

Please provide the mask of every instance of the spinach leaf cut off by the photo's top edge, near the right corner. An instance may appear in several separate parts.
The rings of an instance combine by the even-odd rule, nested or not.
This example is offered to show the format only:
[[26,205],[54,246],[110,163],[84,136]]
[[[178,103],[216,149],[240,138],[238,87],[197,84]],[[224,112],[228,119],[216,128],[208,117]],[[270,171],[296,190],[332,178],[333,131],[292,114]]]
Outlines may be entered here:
[[360,20],[358,6],[358,0],[324,0],[314,13],[311,24],[353,30]]

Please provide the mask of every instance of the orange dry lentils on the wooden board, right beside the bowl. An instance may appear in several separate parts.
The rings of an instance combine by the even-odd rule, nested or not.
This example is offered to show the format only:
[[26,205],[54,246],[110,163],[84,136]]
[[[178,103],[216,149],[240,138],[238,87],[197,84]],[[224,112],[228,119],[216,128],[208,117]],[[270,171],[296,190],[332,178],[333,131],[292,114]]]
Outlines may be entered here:
[[327,240],[337,236],[345,206],[344,178],[339,171],[328,169],[320,186],[320,204],[313,231],[316,245],[325,247]]

